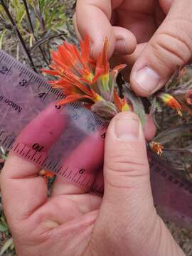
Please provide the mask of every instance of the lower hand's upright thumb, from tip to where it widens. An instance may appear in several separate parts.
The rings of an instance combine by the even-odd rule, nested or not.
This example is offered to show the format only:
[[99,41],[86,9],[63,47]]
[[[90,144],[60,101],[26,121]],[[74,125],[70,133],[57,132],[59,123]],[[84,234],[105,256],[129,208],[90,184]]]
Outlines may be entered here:
[[[105,141],[105,201],[119,204],[137,198],[137,208],[153,205],[146,142],[139,117],[133,112],[117,114]],[[140,201],[140,202],[139,202]],[[129,206],[127,206],[129,208]]]

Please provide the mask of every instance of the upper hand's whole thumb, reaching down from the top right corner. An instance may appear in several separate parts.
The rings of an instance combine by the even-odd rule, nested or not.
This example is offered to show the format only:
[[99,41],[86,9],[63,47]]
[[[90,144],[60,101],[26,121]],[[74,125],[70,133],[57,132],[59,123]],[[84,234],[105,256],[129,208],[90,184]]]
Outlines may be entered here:
[[130,77],[137,95],[149,96],[169,80],[192,55],[192,1],[172,1],[164,22],[137,59]]

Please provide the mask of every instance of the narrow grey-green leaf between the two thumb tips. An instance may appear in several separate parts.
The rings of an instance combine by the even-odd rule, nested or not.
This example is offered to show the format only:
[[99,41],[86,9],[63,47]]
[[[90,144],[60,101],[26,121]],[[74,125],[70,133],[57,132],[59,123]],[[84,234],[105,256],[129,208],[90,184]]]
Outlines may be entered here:
[[123,85],[123,95],[132,103],[134,112],[139,116],[142,125],[144,126],[146,122],[146,114],[144,110],[144,105],[141,100],[141,98],[134,95],[134,92],[132,92],[129,89],[129,85],[125,84]]

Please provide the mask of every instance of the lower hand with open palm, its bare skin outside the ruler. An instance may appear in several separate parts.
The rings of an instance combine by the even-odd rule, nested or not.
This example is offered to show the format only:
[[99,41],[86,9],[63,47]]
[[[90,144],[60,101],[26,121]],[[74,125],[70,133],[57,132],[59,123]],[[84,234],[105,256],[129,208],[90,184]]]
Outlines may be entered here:
[[107,130],[103,199],[62,178],[48,198],[39,171],[11,153],[1,173],[18,256],[183,255],[156,214],[146,143],[134,113],[117,114]]

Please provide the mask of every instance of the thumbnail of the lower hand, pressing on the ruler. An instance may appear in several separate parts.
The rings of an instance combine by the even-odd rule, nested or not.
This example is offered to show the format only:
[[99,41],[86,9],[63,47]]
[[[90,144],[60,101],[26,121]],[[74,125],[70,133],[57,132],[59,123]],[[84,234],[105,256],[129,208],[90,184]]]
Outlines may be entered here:
[[139,121],[133,117],[122,117],[115,121],[114,130],[118,139],[130,141],[139,137]]

